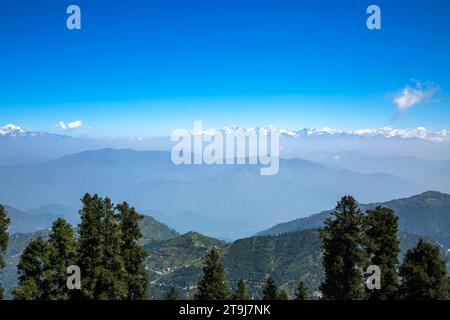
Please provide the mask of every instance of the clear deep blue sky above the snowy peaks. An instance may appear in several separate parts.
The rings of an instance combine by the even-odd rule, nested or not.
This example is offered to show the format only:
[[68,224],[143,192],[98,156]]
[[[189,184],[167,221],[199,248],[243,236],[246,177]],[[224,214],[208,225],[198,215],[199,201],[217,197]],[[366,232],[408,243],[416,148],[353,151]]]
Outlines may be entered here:
[[[82,30],[66,28],[70,4]],[[381,30],[366,28],[370,4]],[[0,125],[450,127],[446,0],[2,0],[0,12]]]

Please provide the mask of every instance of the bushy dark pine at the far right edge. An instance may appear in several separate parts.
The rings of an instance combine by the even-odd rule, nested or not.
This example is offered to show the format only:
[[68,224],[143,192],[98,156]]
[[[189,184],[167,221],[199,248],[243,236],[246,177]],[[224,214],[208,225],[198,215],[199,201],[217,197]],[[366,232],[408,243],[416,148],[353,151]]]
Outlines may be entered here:
[[400,292],[408,300],[445,300],[449,298],[449,281],[440,249],[423,240],[408,250],[400,266]]

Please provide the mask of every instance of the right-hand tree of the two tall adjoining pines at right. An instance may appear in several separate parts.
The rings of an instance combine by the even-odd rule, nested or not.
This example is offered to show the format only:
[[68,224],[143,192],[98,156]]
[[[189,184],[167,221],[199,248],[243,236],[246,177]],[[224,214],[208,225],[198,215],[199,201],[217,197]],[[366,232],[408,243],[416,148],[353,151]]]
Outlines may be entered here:
[[368,290],[369,299],[392,300],[398,294],[398,217],[388,208],[376,207],[366,216],[367,253],[370,264],[380,267],[381,289]]

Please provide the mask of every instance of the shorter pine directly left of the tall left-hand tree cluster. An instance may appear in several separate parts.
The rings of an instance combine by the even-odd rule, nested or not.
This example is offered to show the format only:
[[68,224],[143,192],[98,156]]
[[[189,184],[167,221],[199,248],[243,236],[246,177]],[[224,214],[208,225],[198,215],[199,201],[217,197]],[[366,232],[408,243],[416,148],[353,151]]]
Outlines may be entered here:
[[64,219],[57,219],[49,236],[49,263],[52,270],[49,299],[68,300],[72,292],[67,288],[67,267],[75,263],[77,243],[72,226]]

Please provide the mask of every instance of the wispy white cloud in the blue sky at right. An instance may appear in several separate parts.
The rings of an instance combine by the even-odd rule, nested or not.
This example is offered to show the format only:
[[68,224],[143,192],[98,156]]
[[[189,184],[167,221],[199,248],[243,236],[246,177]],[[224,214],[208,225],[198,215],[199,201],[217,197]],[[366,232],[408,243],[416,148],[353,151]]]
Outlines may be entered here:
[[422,84],[416,82],[415,87],[405,86],[394,97],[393,102],[397,105],[399,112],[429,100],[436,92],[438,87],[432,84]]

